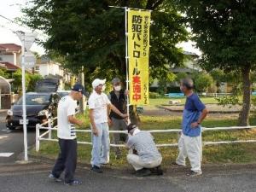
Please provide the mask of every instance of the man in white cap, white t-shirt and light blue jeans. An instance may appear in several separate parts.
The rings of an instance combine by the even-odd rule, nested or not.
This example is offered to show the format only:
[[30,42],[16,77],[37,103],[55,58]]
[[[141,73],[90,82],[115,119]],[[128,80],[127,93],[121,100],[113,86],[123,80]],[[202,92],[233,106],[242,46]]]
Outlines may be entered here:
[[89,116],[92,131],[92,152],[91,166],[92,171],[102,172],[101,165],[109,161],[109,132],[108,120],[109,109],[120,117],[126,118],[127,115],[119,112],[103,93],[106,80],[95,79],[92,82],[93,92],[91,93],[89,103]]

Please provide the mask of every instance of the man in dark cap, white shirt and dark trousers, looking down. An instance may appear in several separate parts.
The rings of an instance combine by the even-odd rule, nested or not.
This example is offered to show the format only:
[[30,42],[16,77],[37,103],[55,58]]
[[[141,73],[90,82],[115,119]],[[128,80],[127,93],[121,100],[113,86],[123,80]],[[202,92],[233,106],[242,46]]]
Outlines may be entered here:
[[79,119],[76,119],[75,113],[77,101],[85,95],[84,87],[81,84],[75,84],[68,96],[61,98],[58,105],[58,130],[59,145],[61,152],[55,162],[55,166],[49,175],[49,178],[61,182],[61,173],[65,170],[65,184],[81,184],[73,178],[77,166],[77,137],[75,125],[82,125]]

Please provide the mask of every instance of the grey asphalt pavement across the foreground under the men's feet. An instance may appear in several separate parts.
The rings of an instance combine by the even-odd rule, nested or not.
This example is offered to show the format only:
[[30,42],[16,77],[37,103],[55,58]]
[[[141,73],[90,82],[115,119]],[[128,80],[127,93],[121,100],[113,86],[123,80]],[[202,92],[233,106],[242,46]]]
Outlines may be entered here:
[[[2,168],[3,169],[3,168]],[[47,178],[50,166],[33,167],[32,170],[0,173],[1,192],[255,192],[256,169],[225,172],[207,172],[202,177],[186,177],[183,173],[163,177],[137,178],[128,172],[97,174],[79,169],[77,176],[83,184],[65,186]],[[170,174],[170,173],[169,173]],[[173,173],[172,173],[173,174]]]

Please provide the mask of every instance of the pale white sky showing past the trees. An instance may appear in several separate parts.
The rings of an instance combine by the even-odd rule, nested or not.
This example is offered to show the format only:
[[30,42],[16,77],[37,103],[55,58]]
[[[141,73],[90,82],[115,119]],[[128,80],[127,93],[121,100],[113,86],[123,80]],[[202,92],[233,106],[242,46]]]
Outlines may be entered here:
[[[21,17],[22,13],[20,12],[20,6],[25,6],[27,1],[28,0],[1,0],[0,15],[3,15],[11,20],[15,20],[15,18]],[[9,20],[5,20],[0,17],[0,44],[13,43],[21,45],[20,39],[14,33],[15,31],[19,30],[24,32],[32,32],[27,28],[12,24]],[[38,38],[42,38],[42,36],[40,37],[39,35]],[[201,55],[201,51],[196,49],[195,46],[193,46],[194,44],[195,43],[189,41],[178,44],[177,46],[182,47],[185,51]],[[38,52],[39,55],[44,54],[44,48],[38,44],[33,44],[31,50]]]

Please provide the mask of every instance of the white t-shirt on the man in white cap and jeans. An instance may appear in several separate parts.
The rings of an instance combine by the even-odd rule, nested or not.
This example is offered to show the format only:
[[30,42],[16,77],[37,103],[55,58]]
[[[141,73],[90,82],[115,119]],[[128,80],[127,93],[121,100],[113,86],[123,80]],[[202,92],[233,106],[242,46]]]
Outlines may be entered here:
[[90,94],[89,109],[93,109],[94,122],[102,124],[108,122],[108,105],[111,103],[105,93],[97,94],[95,90]]

